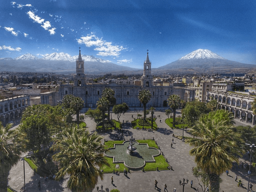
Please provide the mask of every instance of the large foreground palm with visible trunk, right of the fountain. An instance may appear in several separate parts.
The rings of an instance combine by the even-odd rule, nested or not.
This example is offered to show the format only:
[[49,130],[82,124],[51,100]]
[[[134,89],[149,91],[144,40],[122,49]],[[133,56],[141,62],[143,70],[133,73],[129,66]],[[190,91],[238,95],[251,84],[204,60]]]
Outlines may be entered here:
[[238,162],[242,150],[238,147],[240,135],[231,129],[225,121],[199,120],[190,130],[196,138],[186,142],[193,146],[190,155],[195,156],[195,162],[209,176],[210,192],[218,192],[220,175],[230,168],[232,162]]

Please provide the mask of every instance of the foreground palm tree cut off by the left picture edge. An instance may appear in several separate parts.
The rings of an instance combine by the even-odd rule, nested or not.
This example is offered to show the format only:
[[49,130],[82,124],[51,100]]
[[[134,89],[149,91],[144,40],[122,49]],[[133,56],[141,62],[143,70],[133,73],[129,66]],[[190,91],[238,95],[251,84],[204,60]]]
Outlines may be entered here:
[[11,128],[12,124],[6,127],[0,124],[0,192],[7,191],[9,171],[18,163],[25,148],[24,135],[18,129]]

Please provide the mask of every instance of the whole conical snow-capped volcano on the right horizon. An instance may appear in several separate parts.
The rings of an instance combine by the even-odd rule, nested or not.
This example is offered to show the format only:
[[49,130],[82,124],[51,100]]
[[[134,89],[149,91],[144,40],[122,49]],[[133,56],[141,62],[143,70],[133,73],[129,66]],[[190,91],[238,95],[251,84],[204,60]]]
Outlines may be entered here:
[[179,72],[231,72],[249,70],[256,65],[243,64],[227,60],[207,49],[198,49],[177,61],[157,68],[157,70],[179,71]]

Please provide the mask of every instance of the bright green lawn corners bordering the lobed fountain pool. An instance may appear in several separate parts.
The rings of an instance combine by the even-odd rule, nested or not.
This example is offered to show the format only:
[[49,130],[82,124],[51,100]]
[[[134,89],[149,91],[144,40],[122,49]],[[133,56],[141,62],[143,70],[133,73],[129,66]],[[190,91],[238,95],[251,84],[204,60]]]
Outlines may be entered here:
[[[136,140],[138,143],[147,143],[149,147],[154,147],[158,149],[158,145],[156,144],[156,142],[154,140]],[[124,141],[107,141],[104,143],[104,145],[106,146],[106,148],[112,148],[114,147],[114,144],[117,143],[123,143]],[[105,157],[107,162],[110,164],[110,167],[107,166],[103,166],[101,168],[101,170],[104,170],[104,173],[112,173],[113,170],[117,170],[118,172],[124,172],[124,168],[126,168],[126,166],[124,166],[123,163],[119,163],[119,168],[116,169],[116,163],[113,163],[113,158],[108,158]],[[155,171],[156,168],[158,167],[159,170],[168,170],[168,163],[166,162],[164,156],[159,155],[157,157],[154,157],[156,162],[155,163],[146,163],[146,166],[144,167],[145,171]],[[127,169],[127,168],[126,168]]]

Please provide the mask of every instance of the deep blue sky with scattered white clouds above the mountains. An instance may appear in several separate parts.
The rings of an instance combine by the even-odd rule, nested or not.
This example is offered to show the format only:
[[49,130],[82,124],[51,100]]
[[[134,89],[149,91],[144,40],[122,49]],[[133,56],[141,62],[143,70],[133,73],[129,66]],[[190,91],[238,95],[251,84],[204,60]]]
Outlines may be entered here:
[[255,0],[4,0],[0,58],[53,52],[152,68],[197,49],[256,64]]

